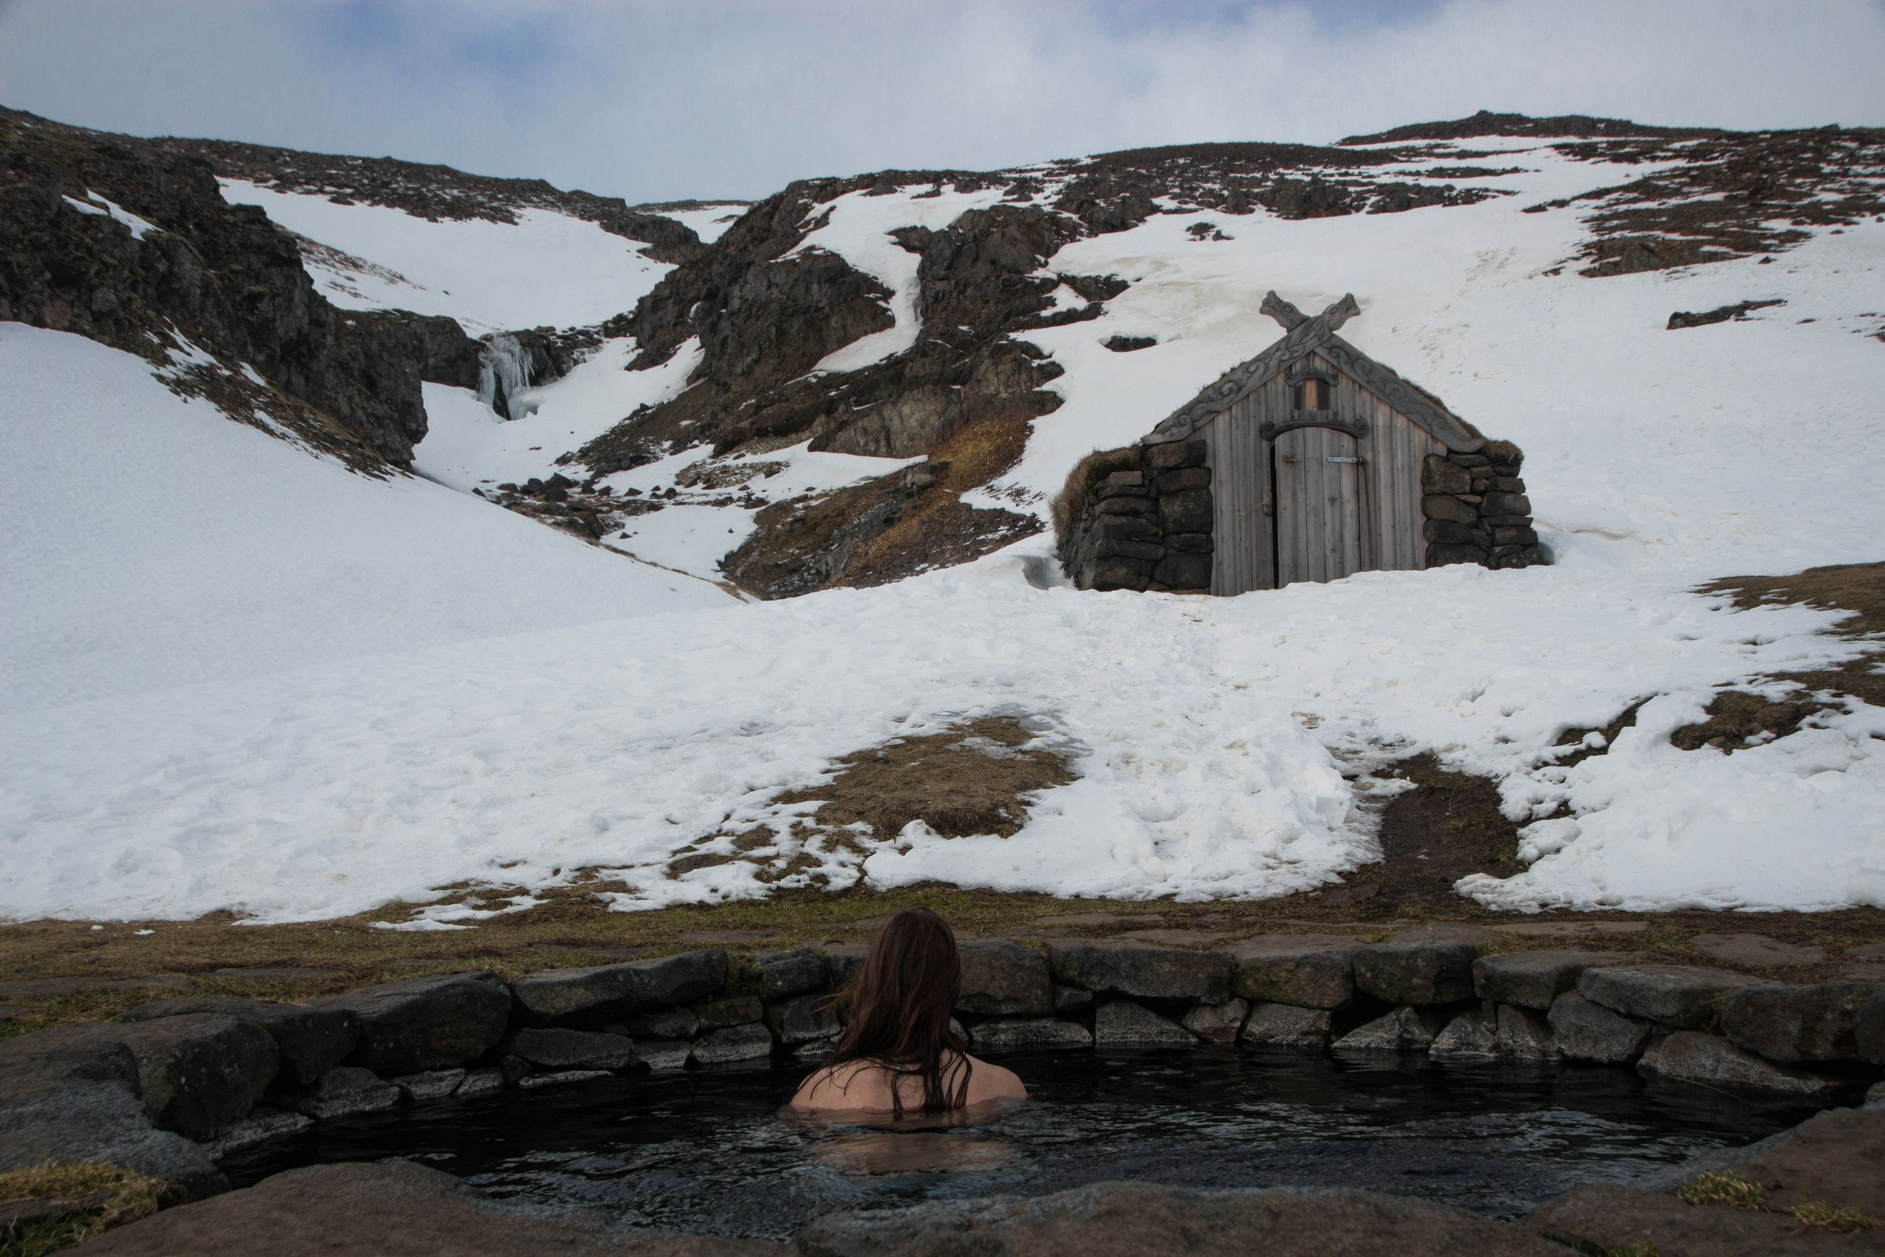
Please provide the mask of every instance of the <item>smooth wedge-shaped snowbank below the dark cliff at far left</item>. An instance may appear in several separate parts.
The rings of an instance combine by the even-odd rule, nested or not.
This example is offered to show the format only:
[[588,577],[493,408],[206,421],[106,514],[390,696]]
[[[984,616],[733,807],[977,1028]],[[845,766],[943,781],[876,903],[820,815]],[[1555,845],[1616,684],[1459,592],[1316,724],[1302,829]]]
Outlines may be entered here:
[[45,707],[731,601],[439,484],[354,475],[77,335],[0,324],[0,379],[13,727]]

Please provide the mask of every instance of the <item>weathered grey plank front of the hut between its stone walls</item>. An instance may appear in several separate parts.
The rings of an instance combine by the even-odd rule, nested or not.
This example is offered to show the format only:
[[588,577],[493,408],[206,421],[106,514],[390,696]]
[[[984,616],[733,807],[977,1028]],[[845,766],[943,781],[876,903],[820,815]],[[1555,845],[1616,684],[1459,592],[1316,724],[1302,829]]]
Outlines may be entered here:
[[[1287,375],[1304,367],[1335,381],[1331,418],[1365,418],[1365,437],[1335,428],[1293,428],[1274,443],[1261,437],[1265,420],[1289,420]],[[1287,375],[1270,377],[1199,430],[1212,469],[1210,592],[1425,567],[1421,462],[1446,447],[1321,354]]]

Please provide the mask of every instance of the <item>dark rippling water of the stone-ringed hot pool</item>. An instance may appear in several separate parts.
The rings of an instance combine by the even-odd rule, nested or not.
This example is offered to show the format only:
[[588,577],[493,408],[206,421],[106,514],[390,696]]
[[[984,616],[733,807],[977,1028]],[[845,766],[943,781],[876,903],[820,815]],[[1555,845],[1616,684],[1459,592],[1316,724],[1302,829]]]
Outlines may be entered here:
[[1617,1069],[1229,1048],[1001,1063],[1033,1102],[976,1129],[780,1119],[803,1069],[699,1070],[324,1121],[222,1168],[247,1185],[300,1165],[411,1159],[522,1206],[745,1236],[788,1236],[844,1206],[1046,1195],[1112,1178],[1367,1187],[1517,1217],[1580,1182],[1623,1182],[1813,1112]]

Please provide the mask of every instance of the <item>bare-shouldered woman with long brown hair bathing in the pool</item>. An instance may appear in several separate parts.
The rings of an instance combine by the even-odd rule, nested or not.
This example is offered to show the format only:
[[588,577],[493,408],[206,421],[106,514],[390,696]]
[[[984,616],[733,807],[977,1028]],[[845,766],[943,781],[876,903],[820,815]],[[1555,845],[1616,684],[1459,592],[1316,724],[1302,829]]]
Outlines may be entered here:
[[903,1118],[1025,1101],[1020,1078],[976,1061],[950,1027],[959,995],[948,922],[929,908],[897,912],[841,997],[846,1025],[831,1063],[799,1086],[792,1106]]

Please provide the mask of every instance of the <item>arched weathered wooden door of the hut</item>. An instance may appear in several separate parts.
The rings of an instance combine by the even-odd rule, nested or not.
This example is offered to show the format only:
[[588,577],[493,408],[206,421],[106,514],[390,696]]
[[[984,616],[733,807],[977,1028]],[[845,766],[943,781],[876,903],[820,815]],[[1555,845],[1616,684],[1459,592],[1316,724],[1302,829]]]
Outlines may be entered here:
[[1276,586],[1338,580],[1372,567],[1367,475],[1355,437],[1291,428],[1270,450],[1276,501]]

